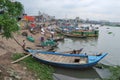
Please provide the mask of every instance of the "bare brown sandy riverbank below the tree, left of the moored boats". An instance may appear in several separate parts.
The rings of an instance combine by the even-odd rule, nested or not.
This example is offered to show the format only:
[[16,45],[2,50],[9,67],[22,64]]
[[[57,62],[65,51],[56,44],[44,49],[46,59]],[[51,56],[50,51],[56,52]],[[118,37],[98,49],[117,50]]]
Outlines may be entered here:
[[[22,36],[22,32],[27,32],[29,36],[32,36],[35,39],[35,42],[30,42],[26,39],[26,36]],[[50,36],[46,34],[47,37]],[[19,33],[14,34],[15,39],[23,45],[23,40],[25,40],[26,47],[30,47],[32,49],[43,49],[41,47],[37,47],[37,44],[40,44],[40,37],[44,36],[41,33],[32,34],[28,30],[21,30]],[[47,39],[46,36],[44,36]],[[44,48],[43,50],[47,49],[48,47]],[[23,49],[20,45],[16,43],[14,39],[6,39],[5,37],[0,36],[0,55],[5,54],[6,52],[13,52],[13,53],[23,53]]]

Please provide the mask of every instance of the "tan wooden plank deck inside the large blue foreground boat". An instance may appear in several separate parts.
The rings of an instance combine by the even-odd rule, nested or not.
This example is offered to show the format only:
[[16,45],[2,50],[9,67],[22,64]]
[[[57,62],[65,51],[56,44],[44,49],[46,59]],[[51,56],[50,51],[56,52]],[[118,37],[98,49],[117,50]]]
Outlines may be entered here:
[[[80,58],[80,57],[66,57],[66,56],[60,56],[60,55],[54,55],[54,54],[37,54],[36,56],[40,56],[41,59],[45,59],[48,61],[53,62],[62,62],[62,63],[79,63],[84,64],[87,63],[87,58]],[[75,60],[78,60],[78,62],[75,62]]]

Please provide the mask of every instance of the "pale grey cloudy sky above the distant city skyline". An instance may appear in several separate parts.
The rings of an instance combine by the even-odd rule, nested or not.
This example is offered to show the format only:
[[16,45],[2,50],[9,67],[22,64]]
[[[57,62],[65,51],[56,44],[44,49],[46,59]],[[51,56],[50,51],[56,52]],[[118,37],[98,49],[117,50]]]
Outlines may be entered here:
[[120,22],[120,0],[17,0],[28,15],[47,13],[56,18],[80,17]]

